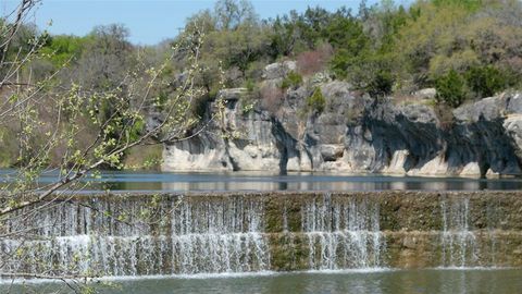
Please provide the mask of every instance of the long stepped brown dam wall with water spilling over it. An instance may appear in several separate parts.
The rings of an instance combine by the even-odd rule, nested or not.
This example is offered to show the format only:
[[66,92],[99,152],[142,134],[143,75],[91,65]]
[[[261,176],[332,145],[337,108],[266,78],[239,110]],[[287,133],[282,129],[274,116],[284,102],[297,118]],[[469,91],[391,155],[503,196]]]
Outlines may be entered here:
[[520,267],[519,192],[75,195],[0,228],[2,273]]

